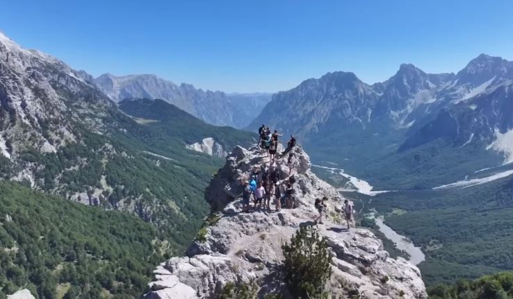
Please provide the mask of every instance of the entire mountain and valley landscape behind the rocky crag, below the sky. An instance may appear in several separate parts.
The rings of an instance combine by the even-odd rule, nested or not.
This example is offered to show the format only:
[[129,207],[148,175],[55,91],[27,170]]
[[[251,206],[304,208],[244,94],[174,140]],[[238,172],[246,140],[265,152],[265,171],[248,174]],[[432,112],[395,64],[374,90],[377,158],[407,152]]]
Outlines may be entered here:
[[[261,123],[295,134],[316,164],[404,191],[344,196],[422,247],[426,282],[512,269],[511,178],[481,182],[511,171],[512,85],[513,62],[482,54],[455,74],[404,64],[372,85],[335,71],[273,95],[225,94],[154,75],[94,78],[0,33],[0,296],[142,293],[147,263],[179,255],[199,230],[223,158],[257,142],[236,128]],[[462,180],[473,185],[446,189]],[[487,215],[482,227],[457,220]]]

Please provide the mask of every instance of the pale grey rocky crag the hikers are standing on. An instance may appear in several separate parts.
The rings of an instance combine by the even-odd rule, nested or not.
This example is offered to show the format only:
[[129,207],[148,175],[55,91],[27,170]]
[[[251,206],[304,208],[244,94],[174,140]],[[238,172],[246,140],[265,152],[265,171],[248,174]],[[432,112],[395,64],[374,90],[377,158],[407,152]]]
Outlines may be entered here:
[[[212,214],[184,257],[172,257],[154,271],[154,281],[143,299],[216,298],[229,283],[258,284],[259,298],[281,293],[293,298],[284,283],[282,244],[302,225],[315,225],[316,198],[329,198],[327,219],[318,225],[329,244],[332,276],[327,290],[334,298],[427,298],[421,273],[405,259],[392,259],[380,239],[369,230],[345,230],[341,223],[343,198],[310,170],[302,148],[293,149],[293,176],[297,205],[293,209],[241,212],[241,182],[253,166],[268,164],[259,148],[237,146],[206,189]],[[282,179],[287,159],[277,160]]]

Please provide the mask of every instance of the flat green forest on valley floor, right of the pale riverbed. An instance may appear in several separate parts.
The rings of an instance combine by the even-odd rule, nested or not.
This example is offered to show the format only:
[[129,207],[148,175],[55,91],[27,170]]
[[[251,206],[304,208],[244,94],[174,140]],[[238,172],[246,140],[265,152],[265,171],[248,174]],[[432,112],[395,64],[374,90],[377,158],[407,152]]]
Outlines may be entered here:
[[462,189],[360,195],[355,201],[385,214],[387,225],[421,246],[426,260],[418,267],[428,286],[513,270],[511,177]]

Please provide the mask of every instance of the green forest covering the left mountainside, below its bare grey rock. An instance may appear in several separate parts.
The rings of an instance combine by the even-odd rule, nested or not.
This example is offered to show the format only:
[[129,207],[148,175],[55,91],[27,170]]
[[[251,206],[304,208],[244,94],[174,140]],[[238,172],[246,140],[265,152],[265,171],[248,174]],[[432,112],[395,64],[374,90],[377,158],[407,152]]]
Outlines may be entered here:
[[[185,145],[215,137],[229,151],[254,139],[168,103],[132,104],[136,115],[96,115],[101,132],[75,123],[79,139],[56,153],[27,146],[14,162],[0,157],[0,178],[32,169],[45,192],[0,181],[0,299],[20,287],[38,298],[140,296],[152,269],[194,238],[209,213],[204,189],[224,164]],[[152,111],[159,120],[138,122]]]

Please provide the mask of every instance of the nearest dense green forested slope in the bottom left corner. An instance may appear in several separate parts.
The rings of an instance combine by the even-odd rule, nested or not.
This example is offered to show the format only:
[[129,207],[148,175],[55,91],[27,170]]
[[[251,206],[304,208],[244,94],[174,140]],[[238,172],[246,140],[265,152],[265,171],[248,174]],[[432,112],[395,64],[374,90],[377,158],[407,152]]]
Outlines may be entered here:
[[104,211],[0,181],[0,298],[136,298],[170,255],[164,235]]

